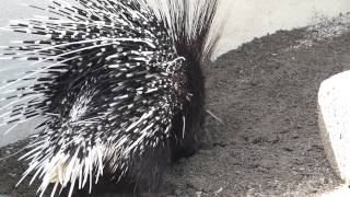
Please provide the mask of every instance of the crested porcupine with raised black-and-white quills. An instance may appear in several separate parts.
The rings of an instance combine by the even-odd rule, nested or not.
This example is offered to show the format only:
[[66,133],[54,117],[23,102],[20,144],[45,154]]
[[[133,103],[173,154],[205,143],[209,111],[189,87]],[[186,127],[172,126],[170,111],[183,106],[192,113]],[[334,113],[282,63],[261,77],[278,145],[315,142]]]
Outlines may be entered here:
[[50,187],[52,196],[91,192],[106,174],[155,189],[170,161],[197,150],[202,68],[221,31],[212,28],[219,1],[50,1],[30,5],[49,16],[5,27],[44,36],[16,42],[1,56],[36,61],[0,86],[8,131],[44,119],[22,157],[30,161],[23,178],[32,174],[38,192]]

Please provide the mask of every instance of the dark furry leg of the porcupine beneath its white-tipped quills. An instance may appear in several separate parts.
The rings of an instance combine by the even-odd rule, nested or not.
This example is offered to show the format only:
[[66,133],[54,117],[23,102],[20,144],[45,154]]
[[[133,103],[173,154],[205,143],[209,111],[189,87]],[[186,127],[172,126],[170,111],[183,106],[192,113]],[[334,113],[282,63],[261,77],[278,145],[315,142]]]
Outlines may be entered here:
[[[73,197],[158,197],[163,173],[170,164],[167,146],[155,150],[147,150],[144,157],[132,160],[128,174],[116,179],[115,172],[106,170],[104,176],[94,185],[90,194],[89,187],[75,189]],[[67,196],[67,195],[62,195]]]

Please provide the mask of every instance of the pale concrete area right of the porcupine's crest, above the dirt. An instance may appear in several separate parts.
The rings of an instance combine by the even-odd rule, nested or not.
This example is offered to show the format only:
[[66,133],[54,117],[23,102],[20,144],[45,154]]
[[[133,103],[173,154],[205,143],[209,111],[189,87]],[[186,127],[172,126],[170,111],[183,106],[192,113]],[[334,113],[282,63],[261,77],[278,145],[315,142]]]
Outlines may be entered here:
[[278,30],[303,27],[350,11],[348,0],[224,0],[230,18],[218,54]]

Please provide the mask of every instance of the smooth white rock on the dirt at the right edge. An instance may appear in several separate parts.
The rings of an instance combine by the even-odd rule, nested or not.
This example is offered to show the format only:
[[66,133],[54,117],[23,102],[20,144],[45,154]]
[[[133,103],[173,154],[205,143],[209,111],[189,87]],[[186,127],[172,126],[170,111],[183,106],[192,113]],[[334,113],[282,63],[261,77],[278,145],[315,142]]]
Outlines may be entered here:
[[329,163],[350,184],[350,71],[322,83],[318,112],[319,130]]

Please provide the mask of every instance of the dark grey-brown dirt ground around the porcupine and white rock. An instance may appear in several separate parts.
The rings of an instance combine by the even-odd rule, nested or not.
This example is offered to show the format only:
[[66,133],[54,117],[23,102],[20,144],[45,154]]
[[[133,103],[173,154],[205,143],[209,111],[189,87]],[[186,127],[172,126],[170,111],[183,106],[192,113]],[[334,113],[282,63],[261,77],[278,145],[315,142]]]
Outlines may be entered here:
[[[316,99],[323,80],[350,68],[350,33],[323,36],[319,30],[256,38],[207,69],[207,107],[218,118],[208,115],[202,149],[170,169],[165,190],[178,197],[319,196],[341,184],[323,150]],[[2,148],[0,158],[23,143]],[[27,183],[14,188],[26,167],[16,158],[0,161],[0,194],[35,196],[37,187]]]

